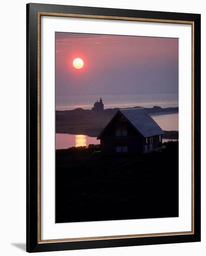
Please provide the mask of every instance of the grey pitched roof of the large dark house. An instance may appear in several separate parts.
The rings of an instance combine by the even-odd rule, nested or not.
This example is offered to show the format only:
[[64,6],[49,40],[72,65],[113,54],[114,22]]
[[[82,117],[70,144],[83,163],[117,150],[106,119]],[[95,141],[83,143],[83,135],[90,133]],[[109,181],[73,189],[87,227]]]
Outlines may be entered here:
[[111,121],[106,125],[97,139],[100,139],[100,136],[104,133],[106,128],[118,113],[121,113],[126,118],[126,120],[145,138],[164,134],[164,131],[153,120],[153,118],[146,113],[144,108],[125,108],[119,109],[119,111],[113,116]]

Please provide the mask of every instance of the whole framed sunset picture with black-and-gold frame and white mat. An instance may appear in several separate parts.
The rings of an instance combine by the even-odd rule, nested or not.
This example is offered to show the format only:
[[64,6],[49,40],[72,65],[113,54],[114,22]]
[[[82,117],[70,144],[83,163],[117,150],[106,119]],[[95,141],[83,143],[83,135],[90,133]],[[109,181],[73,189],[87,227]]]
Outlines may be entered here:
[[27,4],[27,251],[200,241],[200,14]]

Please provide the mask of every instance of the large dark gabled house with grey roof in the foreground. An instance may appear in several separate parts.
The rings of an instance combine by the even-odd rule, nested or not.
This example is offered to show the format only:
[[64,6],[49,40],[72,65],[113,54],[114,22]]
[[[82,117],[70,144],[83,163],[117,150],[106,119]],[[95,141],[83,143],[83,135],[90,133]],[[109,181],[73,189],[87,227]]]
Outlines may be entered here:
[[144,108],[126,108],[117,111],[97,139],[101,154],[138,154],[159,150],[163,134]]

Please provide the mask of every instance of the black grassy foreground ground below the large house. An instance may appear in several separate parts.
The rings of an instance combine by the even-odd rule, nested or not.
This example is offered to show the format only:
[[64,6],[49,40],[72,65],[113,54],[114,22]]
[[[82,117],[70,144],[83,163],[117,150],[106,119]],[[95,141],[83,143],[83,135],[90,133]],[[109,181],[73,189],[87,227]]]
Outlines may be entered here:
[[178,142],[144,155],[56,150],[56,222],[178,216]]

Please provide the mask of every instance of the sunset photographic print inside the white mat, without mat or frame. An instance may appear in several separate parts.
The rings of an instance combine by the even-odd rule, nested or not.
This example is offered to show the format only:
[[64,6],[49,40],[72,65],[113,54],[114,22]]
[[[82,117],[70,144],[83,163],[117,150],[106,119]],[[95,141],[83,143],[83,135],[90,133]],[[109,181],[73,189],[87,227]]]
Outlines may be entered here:
[[55,32],[56,222],[179,216],[179,39]]

